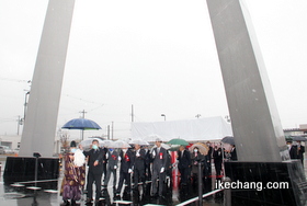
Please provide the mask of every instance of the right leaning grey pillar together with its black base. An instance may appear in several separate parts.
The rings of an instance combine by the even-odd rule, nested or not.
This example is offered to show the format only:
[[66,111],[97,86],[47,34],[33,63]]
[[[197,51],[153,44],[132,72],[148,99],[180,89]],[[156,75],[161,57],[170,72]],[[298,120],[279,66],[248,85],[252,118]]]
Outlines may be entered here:
[[288,188],[231,190],[232,205],[305,205],[302,164],[289,159],[261,52],[243,0],[207,0],[237,162],[225,162],[232,182],[285,181]]

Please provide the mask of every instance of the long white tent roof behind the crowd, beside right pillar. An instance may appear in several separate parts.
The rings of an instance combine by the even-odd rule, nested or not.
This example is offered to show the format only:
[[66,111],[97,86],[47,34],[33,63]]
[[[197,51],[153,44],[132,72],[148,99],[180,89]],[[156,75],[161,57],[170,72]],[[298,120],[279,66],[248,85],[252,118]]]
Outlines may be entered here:
[[181,138],[190,141],[220,140],[232,136],[231,125],[220,117],[167,121],[154,123],[132,123],[132,139],[155,141],[157,137],[168,141]]

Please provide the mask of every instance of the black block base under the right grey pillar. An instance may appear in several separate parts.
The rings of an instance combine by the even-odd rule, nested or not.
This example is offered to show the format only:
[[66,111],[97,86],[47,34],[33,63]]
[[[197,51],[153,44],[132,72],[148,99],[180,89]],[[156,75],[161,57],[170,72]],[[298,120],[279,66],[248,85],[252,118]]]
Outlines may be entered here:
[[[303,206],[307,203],[306,178],[300,161],[225,162],[225,173],[231,182],[255,183],[254,188],[231,188],[232,205]],[[288,188],[282,188],[286,185]]]

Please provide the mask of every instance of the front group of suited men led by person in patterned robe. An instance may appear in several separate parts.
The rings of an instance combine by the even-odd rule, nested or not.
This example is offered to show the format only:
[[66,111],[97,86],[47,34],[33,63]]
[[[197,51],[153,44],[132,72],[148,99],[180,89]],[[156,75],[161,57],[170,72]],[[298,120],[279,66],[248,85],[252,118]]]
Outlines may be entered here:
[[[163,182],[171,168],[170,154],[161,147],[161,139],[156,139],[156,147],[149,150],[134,144],[132,148],[123,147],[121,149],[101,148],[99,140],[93,139],[90,150],[79,148],[75,141],[70,144],[70,150],[65,156],[65,171],[61,185],[61,196],[65,205],[73,205],[80,201],[82,191],[87,192],[87,204],[93,201],[99,202],[103,191],[107,188],[110,180],[115,196],[121,195],[124,183],[126,192],[139,190],[145,191],[147,180],[151,180],[151,196],[163,195]],[[79,159],[88,162],[87,185],[86,185],[86,162],[81,165],[76,154],[80,153]],[[118,183],[117,170],[120,170]],[[113,179],[111,179],[113,176]],[[133,179],[133,184],[132,180]],[[95,197],[93,199],[93,184],[95,185]]]

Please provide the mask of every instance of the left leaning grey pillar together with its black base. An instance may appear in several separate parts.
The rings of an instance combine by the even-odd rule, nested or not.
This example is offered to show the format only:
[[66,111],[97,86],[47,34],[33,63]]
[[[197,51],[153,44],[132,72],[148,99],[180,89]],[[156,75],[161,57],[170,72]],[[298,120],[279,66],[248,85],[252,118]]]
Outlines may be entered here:
[[[73,5],[75,0],[49,0],[32,79],[20,157],[7,159],[3,174],[7,181],[33,180],[34,170],[24,170],[31,168],[27,165],[33,162],[34,152],[42,156],[39,161],[58,164],[58,158],[53,158],[54,141]],[[49,174],[38,169],[38,179],[58,176],[58,165],[49,165],[56,167],[48,167],[49,171],[56,173]]]

